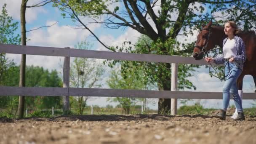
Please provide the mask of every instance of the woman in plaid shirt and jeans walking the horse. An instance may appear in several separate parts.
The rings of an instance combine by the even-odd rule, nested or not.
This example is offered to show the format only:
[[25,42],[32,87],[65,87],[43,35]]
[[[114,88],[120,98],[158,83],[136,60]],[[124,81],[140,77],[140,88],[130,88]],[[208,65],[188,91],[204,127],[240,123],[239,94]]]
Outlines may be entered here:
[[234,21],[226,22],[224,32],[227,35],[227,38],[223,40],[223,55],[216,58],[205,58],[205,61],[207,62],[213,61],[216,64],[225,65],[224,74],[226,81],[223,86],[223,107],[216,115],[213,115],[213,117],[226,120],[226,111],[230,100],[229,91],[231,91],[238,113],[234,120],[245,120],[242,102],[236,85],[237,78],[243,70],[243,63],[246,59],[245,43],[237,36],[239,29]]

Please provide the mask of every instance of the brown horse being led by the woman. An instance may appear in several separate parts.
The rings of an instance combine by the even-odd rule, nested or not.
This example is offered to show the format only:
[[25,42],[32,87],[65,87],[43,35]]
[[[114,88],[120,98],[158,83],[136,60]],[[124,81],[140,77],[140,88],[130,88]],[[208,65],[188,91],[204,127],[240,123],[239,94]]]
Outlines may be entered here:
[[[210,21],[200,30],[197,35],[196,46],[193,51],[193,57],[196,60],[203,59],[205,53],[213,49],[216,45],[222,48],[223,40],[227,37],[224,33],[224,27],[211,26]],[[239,90],[243,88],[243,77],[245,75],[253,76],[256,86],[256,34],[253,31],[241,32],[238,34],[245,43],[247,59],[243,65],[243,72],[237,79],[237,87]],[[256,91],[255,91],[256,92]]]

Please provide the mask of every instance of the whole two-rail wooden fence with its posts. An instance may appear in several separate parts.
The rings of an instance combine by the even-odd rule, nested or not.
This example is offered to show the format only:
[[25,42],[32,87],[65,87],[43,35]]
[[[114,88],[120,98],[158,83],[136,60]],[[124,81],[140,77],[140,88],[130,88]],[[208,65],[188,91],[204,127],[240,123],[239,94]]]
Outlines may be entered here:
[[[120,53],[110,51],[92,51],[72,48],[52,48],[24,45],[0,44],[0,53],[15,53],[41,56],[64,56],[63,88],[37,87],[0,87],[0,96],[65,96],[64,107],[67,106],[68,96],[107,96],[107,97],[140,97],[140,98],[169,98],[171,99],[171,114],[177,112],[177,99],[222,99],[222,92],[191,92],[177,91],[178,64],[208,65],[204,60],[196,61],[192,57],[166,56],[156,54]],[[104,88],[70,88],[69,65],[70,57],[113,59],[128,61],[147,61],[171,64],[171,91],[149,91]],[[212,64],[216,65],[216,64]],[[256,93],[243,93],[243,99],[256,99]],[[66,102],[66,103],[65,103]]]

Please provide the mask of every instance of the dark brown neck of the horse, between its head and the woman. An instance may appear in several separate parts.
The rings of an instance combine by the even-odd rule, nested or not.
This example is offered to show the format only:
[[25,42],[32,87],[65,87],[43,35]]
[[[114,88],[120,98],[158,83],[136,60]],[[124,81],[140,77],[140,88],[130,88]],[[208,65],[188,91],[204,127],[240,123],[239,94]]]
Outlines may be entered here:
[[222,48],[223,46],[223,40],[227,37],[224,33],[224,27],[212,27],[213,37],[215,37],[215,40],[213,42],[213,46],[219,45],[219,47]]

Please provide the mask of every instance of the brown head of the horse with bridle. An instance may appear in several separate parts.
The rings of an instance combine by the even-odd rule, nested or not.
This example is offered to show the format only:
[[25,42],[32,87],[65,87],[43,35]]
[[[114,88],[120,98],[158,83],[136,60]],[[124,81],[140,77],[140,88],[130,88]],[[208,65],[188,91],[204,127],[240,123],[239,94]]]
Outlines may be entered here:
[[197,35],[197,41],[193,50],[193,57],[195,60],[203,59],[203,56],[207,51],[213,48],[213,42],[210,40],[211,37],[211,24],[210,21],[206,26],[203,26]]

